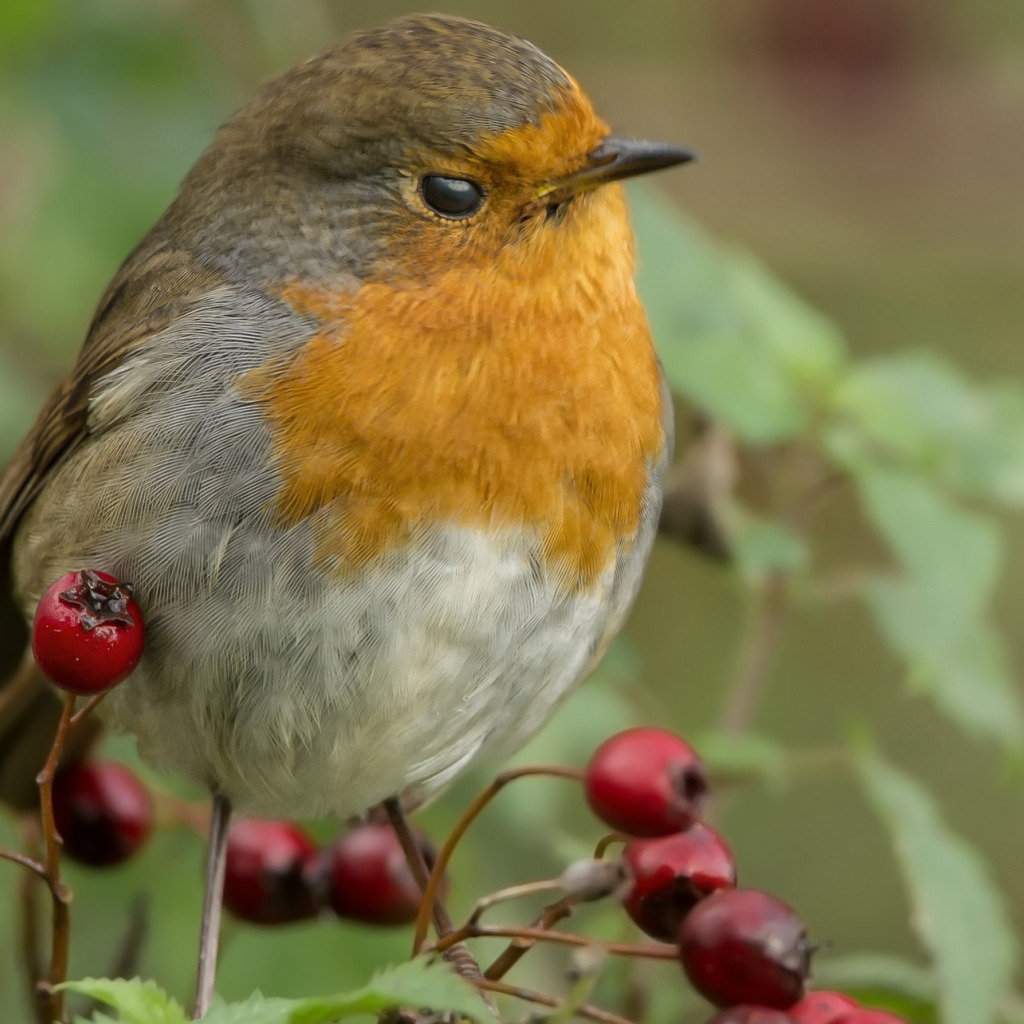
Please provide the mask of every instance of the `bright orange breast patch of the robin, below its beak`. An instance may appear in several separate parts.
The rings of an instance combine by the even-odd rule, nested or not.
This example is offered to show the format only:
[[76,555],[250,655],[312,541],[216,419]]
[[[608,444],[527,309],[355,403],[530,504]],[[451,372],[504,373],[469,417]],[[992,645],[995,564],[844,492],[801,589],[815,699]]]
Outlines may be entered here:
[[321,328],[243,388],[274,434],[280,521],[329,507],[317,554],[337,571],[424,524],[516,527],[578,588],[635,535],[665,444],[658,370],[621,189],[587,203],[416,285],[283,288]]

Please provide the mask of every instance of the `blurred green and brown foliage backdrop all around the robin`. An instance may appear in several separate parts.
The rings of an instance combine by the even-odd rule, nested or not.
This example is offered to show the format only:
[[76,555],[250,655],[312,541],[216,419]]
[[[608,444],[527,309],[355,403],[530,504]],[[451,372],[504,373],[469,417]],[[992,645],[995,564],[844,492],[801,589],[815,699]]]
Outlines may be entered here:
[[[118,261],[231,105],[342,29],[417,6],[0,4],[0,457],[67,365]],[[722,499],[735,570],[663,548],[633,642],[517,761],[580,763],[639,721],[699,730],[741,877],[781,891],[838,947],[819,957],[822,983],[914,1024],[1019,1022],[1014,769],[1024,715],[1020,642],[1006,628],[1019,615],[1006,595],[1019,586],[1005,574],[1020,564],[1024,503],[1024,391],[1014,376],[1024,317],[1019,11],[998,0],[892,0],[882,6],[895,20],[876,26],[899,30],[888,62],[864,58],[880,29],[856,37],[859,65],[840,68],[820,53],[801,63],[799,46],[827,41],[820,24],[795,32],[797,23],[772,20],[796,0],[714,9],[650,0],[628,15],[595,4],[584,19],[539,0],[446,6],[523,32],[573,71],[580,63],[627,129],[679,134],[701,151],[685,195],[714,231],[632,189],[639,285],[682,409],[710,414],[739,452],[739,486]],[[787,49],[775,67],[780,25]],[[905,54],[893,48],[900,39]],[[712,240],[723,234],[743,248]],[[997,379],[978,383],[961,365]],[[782,608],[766,600],[780,586]],[[756,731],[750,721],[724,727],[766,616],[783,612],[788,639],[755,665],[772,684]],[[842,741],[851,720],[873,745]],[[137,765],[129,741],[109,748]],[[1008,764],[1000,787],[993,775]],[[174,784],[139,771],[155,786]],[[435,835],[481,779],[461,780],[428,809]],[[454,909],[499,885],[557,874],[596,833],[570,787],[510,787],[460,853]],[[16,840],[0,821],[0,842]],[[997,881],[989,858],[1002,865]],[[73,972],[109,967],[141,892],[154,927],[139,970],[185,998],[200,861],[196,837],[165,829],[116,873],[72,866]],[[15,880],[0,868],[4,891]],[[13,900],[0,904],[0,1006],[20,1024],[13,910]],[[596,936],[630,935],[608,908],[580,919]],[[858,943],[865,952],[851,952]],[[228,923],[218,987],[233,999],[255,988],[296,998],[355,990],[407,953],[406,935],[336,922],[287,933]],[[564,984],[558,954],[523,966],[537,987]],[[598,1001],[646,989],[651,1024],[707,1016],[664,977],[614,965]],[[121,989],[112,1002],[139,992]],[[162,998],[156,1013],[169,1006]],[[231,1013],[257,1019],[254,1006]]]

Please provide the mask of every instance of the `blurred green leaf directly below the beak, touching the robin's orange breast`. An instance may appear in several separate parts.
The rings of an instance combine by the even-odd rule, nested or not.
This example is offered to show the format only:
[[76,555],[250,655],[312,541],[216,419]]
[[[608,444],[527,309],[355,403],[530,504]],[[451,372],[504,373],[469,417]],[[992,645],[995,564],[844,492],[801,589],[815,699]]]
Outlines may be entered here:
[[630,196],[637,287],[672,388],[743,440],[805,433],[843,369],[839,333],[656,193],[635,186]]

